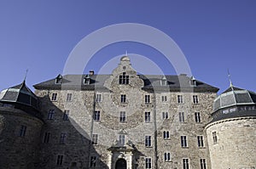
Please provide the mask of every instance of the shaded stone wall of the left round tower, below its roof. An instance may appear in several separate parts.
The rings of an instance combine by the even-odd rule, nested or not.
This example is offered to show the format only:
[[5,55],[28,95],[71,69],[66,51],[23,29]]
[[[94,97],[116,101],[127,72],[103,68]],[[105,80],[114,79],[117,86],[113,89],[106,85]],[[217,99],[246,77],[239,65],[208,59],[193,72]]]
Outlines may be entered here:
[[[12,107],[0,107],[0,118],[4,122],[0,133],[0,168],[37,168],[43,121]],[[21,125],[26,126],[24,136],[20,136]]]

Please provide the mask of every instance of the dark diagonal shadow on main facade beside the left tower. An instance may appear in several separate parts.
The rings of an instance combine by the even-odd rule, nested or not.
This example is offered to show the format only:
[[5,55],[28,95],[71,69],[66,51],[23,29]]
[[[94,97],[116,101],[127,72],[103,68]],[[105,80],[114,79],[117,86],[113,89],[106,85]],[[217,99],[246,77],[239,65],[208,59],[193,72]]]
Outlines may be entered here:
[[[79,131],[84,130],[79,130],[79,125],[74,127],[75,124],[72,119],[68,119],[63,110],[60,110],[50,101],[48,95],[38,99],[41,103],[40,109],[42,110],[44,126],[42,127],[41,146],[35,168],[108,168],[107,161],[102,161],[102,159],[106,159],[103,158],[105,156],[99,154],[91,144],[89,133],[80,133]],[[52,116],[49,115],[50,110],[54,110]]]

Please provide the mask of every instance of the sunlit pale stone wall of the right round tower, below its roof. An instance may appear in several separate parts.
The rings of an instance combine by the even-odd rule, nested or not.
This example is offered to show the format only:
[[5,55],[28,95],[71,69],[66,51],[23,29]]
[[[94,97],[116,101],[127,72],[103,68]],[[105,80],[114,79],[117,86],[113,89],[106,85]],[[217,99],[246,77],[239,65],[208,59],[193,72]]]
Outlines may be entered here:
[[[255,117],[234,118],[209,124],[207,137],[212,169],[256,168],[255,128]],[[217,133],[216,144],[213,144],[212,132]]]

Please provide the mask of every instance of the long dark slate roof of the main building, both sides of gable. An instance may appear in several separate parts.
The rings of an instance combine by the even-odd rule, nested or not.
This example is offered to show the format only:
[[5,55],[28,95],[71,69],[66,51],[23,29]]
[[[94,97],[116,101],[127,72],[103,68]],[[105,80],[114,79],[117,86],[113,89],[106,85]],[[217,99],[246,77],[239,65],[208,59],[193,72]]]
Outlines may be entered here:
[[[95,88],[105,88],[104,82],[109,78],[111,75],[91,75],[90,76],[90,84],[84,85],[84,78],[88,75],[65,75],[62,76],[61,83],[57,84],[54,79],[50,79],[49,81],[41,82],[34,87],[36,89],[61,89],[61,88],[79,88],[83,90],[93,90]],[[141,79],[143,79],[144,87],[143,89],[164,89],[166,86],[161,85],[161,80],[163,79],[162,75],[138,75]],[[218,92],[217,87],[212,87],[207,83],[201,81],[195,81],[196,85],[192,86],[190,84],[190,77],[189,76],[166,76],[167,87],[170,90],[180,90],[181,87],[183,88],[193,88],[194,91],[211,91],[211,92]]]

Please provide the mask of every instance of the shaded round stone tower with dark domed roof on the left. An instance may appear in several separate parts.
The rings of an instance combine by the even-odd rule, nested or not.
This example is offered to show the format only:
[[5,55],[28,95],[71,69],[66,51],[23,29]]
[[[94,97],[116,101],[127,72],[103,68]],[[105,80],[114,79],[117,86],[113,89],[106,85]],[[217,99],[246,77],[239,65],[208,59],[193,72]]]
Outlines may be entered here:
[[25,81],[0,93],[0,168],[37,168],[43,121]]

